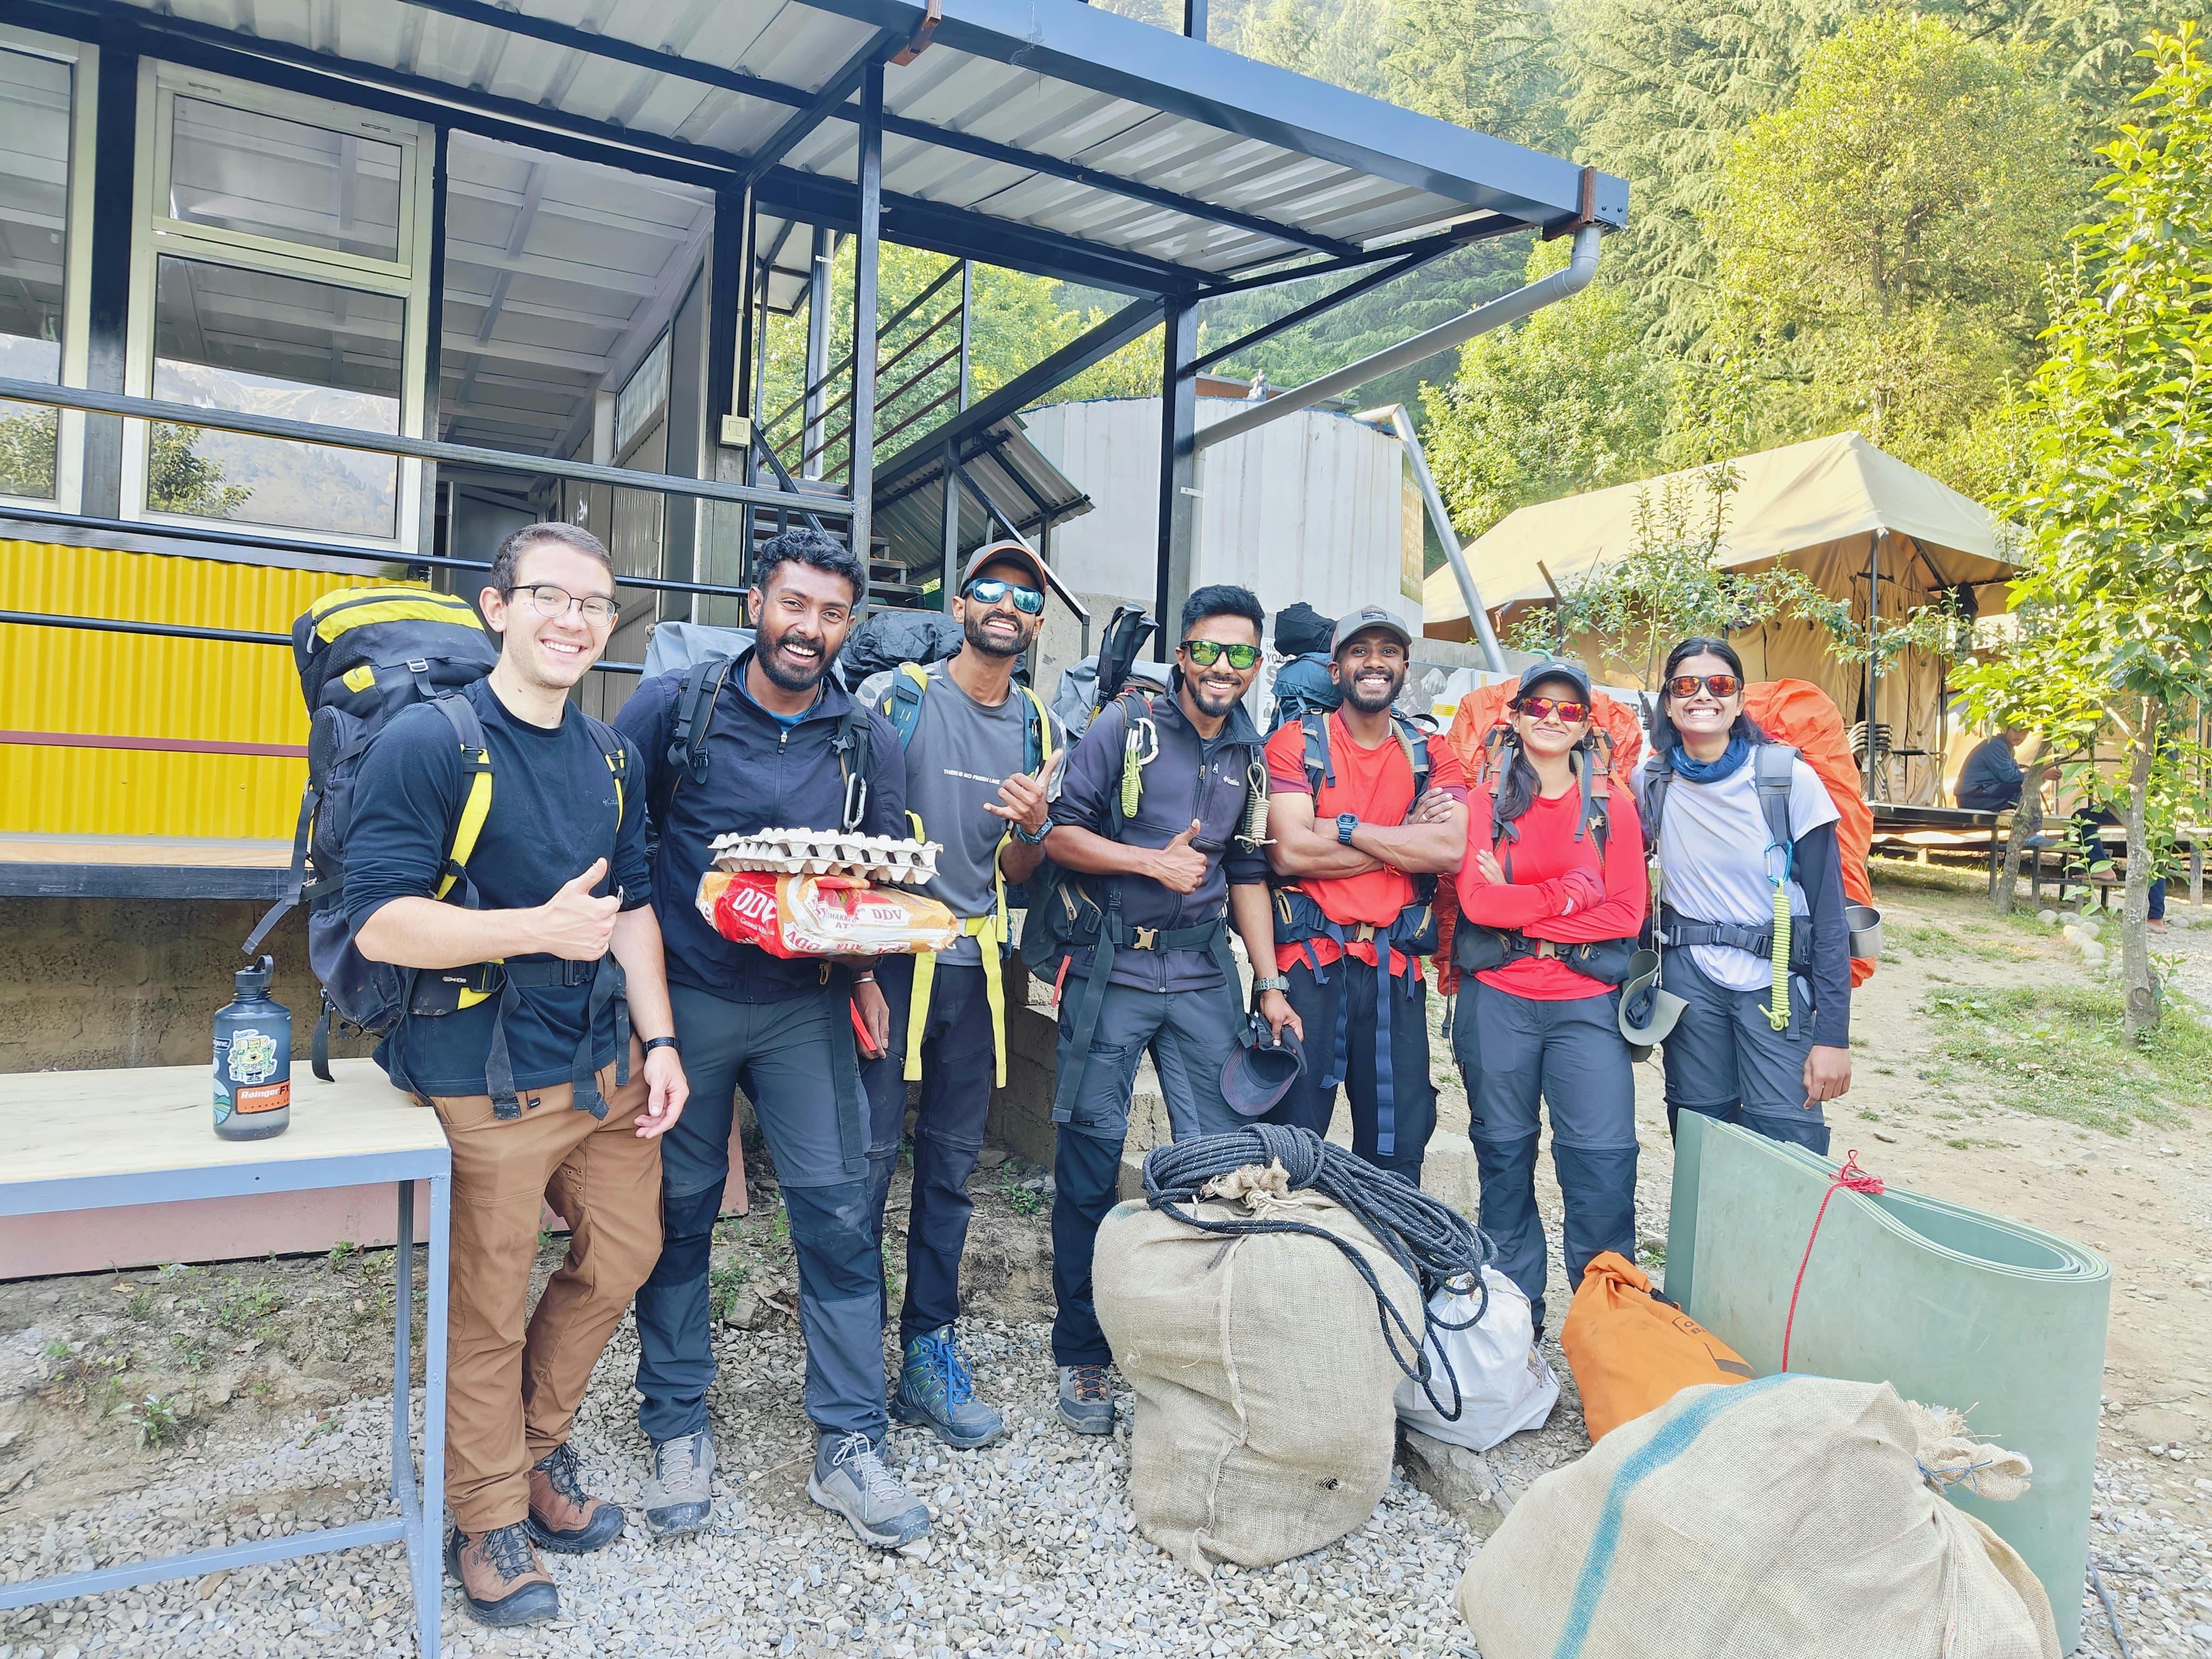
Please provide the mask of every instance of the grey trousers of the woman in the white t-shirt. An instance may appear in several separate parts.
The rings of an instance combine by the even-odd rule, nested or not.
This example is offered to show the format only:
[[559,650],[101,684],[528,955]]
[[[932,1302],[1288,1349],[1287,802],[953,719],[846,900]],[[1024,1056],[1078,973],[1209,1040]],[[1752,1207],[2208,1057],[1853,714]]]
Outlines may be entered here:
[[1790,975],[1790,1024],[1767,1020],[1767,991],[1732,991],[1714,982],[1692,951],[1670,951],[1666,989],[1683,1000],[1663,1044],[1666,1113],[1703,1113],[1776,1141],[1827,1155],[1820,1102],[1805,1106],[1805,1060],[1812,1053],[1812,989]]

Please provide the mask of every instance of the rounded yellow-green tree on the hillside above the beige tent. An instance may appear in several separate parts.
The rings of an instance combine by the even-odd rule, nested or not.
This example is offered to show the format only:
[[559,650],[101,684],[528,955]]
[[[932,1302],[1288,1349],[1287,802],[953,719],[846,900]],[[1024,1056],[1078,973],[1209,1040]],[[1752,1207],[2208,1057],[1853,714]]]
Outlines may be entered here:
[[1929,460],[2000,400],[2075,217],[2066,133],[2031,49],[1938,18],[1869,13],[1812,53],[1730,144],[1708,212],[1770,440],[1858,425]]

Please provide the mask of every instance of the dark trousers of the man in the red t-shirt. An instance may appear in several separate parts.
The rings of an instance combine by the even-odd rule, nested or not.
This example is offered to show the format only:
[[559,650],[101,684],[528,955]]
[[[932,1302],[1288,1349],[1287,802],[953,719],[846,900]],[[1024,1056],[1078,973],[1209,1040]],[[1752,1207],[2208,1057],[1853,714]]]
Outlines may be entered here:
[[[1349,1026],[1343,1088],[1352,1102],[1352,1152],[1420,1186],[1422,1155],[1436,1133],[1436,1084],[1429,1079],[1429,987],[1418,967],[1411,975],[1385,978],[1354,956],[1327,969],[1292,962],[1285,995],[1316,1040],[1334,1024]],[[1371,1020],[1365,1018],[1369,1009],[1376,1011]],[[1360,1018],[1349,1018],[1354,1013]],[[1310,1060],[1261,1121],[1327,1135],[1334,1117],[1336,1082]]]

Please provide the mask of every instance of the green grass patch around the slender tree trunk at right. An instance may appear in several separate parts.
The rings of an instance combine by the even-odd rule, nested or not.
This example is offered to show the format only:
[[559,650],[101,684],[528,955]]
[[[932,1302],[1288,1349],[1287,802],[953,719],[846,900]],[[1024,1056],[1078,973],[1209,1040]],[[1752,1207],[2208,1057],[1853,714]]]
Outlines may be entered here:
[[1920,1013],[1936,1053],[1978,1071],[2006,1106],[2106,1135],[2183,1121],[2212,1071],[2212,1026],[2181,998],[2143,1044],[2128,1042],[2119,995],[2090,987],[1960,987]]

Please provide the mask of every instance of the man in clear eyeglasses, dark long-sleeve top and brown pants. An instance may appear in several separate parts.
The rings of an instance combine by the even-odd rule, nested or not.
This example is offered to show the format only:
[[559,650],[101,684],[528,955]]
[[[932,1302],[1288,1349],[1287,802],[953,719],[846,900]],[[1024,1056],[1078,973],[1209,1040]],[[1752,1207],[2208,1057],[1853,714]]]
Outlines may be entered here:
[[[595,1551],[622,1533],[622,1511],[584,1491],[568,1427],[659,1256],[659,1137],[688,1084],[650,907],[641,761],[568,703],[615,626],[606,549],[575,524],[529,524],[500,546],[478,606],[500,661],[453,695],[482,723],[491,765],[467,865],[480,907],[436,898],[471,770],[445,712],[422,703],[363,759],[345,909],[372,962],[502,969],[493,995],[403,1022],[378,1060],[429,1099],[453,1148],[447,1566],[473,1619],[511,1626],[560,1613],[538,1548]],[[513,1095],[495,1099],[487,1071],[502,1051]],[[540,1199],[568,1221],[568,1259],[524,1327]]]

